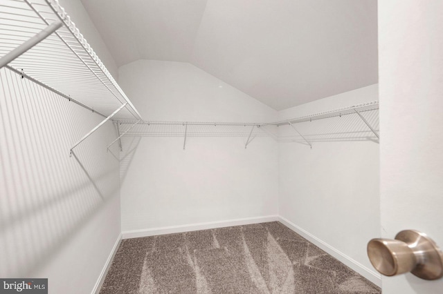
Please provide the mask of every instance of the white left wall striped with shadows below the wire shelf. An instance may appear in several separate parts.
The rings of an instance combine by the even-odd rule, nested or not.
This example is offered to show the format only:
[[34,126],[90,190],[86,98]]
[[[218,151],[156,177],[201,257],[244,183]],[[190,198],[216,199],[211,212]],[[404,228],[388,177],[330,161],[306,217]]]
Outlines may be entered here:
[[[119,164],[102,117],[0,70],[0,277],[91,293],[120,235]],[[118,151],[112,152],[118,156]]]

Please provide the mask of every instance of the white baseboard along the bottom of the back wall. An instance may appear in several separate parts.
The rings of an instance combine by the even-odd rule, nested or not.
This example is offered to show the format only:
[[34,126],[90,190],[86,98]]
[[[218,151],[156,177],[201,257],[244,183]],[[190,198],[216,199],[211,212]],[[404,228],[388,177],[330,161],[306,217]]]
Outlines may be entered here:
[[245,224],[258,224],[260,222],[278,221],[278,215],[266,215],[263,217],[246,217],[242,219],[228,219],[219,222],[201,222],[197,224],[184,224],[179,226],[164,226],[161,228],[147,228],[143,230],[124,231],[123,239],[183,233],[190,231],[207,230],[209,228],[223,228],[225,226],[242,226]]

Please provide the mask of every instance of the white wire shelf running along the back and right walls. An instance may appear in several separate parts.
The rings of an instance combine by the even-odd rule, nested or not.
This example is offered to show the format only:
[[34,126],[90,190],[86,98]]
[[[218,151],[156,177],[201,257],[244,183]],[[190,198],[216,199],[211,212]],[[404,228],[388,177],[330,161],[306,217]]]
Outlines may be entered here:
[[[235,123],[235,122],[208,122],[208,121],[134,121],[120,120],[118,130],[122,137],[248,137],[253,128],[255,137],[273,137],[276,141],[303,141],[299,134],[280,134],[277,126],[298,124],[305,133],[308,141],[327,140],[365,140],[374,133],[368,128],[356,111],[361,113],[368,124],[378,131],[379,101],[370,101],[345,108],[338,108],[326,112],[318,112],[294,119],[271,123]],[[343,118],[342,118],[343,117]],[[336,119],[334,119],[336,118]],[[309,121],[331,119],[328,126],[314,124],[308,126]],[[186,128],[186,126],[188,126]]]

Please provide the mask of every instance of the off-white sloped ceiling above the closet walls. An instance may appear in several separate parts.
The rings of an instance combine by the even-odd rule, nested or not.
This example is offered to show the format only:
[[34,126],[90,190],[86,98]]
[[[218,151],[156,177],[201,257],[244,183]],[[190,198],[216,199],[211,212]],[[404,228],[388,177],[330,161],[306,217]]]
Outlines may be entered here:
[[282,110],[377,84],[377,0],[82,0],[118,66],[190,62]]

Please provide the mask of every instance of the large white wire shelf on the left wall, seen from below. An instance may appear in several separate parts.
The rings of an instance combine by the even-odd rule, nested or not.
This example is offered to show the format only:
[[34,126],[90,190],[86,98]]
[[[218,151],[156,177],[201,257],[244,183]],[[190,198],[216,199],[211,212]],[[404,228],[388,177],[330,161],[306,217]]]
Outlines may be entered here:
[[80,104],[114,119],[140,114],[56,0],[0,0],[0,58],[54,21],[64,26],[8,64]]

